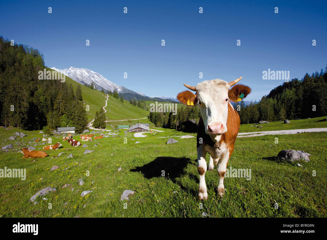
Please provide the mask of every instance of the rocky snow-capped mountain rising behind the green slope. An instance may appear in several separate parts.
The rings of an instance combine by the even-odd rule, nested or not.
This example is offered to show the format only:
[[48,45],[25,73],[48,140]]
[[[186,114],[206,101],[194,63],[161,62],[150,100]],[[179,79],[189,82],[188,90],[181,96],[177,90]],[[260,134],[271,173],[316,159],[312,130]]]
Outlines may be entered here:
[[126,92],[126,89],[127,89],[123,86],[118,86],[117,84],[115,84],[115,83],[109,81],[108,79],[106,79],[105,77],[103,77],[100,73],[93,72],[90,69],[74,68],[74,67],[70,67],[68,69],[67,68],[66,69],[57,69],[57,68],[53,67],[51,69],[61,72],[81,84],[85,84],[85,83],[91,84],[93,81],[96,84],[96,86],[99,86],[101,88],[111,90],[111,91],[116,89],[116,91],[118,93]]

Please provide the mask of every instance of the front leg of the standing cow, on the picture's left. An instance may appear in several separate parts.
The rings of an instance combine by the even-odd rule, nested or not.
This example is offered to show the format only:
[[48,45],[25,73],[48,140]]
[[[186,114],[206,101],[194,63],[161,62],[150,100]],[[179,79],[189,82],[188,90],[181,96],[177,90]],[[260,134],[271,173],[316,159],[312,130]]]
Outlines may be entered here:
[[207,171],[207,162],[205,160],[205,154],[207,153],[202,146],[198,147],[198,172],[199,172],[199,200],[208,199],[207,185],[205,184],[205,172]]

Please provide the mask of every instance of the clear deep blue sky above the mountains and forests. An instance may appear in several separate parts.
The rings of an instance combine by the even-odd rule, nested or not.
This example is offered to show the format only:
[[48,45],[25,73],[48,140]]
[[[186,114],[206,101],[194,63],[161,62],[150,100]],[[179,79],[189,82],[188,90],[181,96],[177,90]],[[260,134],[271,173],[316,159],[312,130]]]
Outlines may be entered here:
[[326,2],[2,0],[0,35],[39,49],[50,68],[91,69],[147,96],[243,76],[254,101],[283,83],[263,80],[268,68],[290,79],[325,69]]

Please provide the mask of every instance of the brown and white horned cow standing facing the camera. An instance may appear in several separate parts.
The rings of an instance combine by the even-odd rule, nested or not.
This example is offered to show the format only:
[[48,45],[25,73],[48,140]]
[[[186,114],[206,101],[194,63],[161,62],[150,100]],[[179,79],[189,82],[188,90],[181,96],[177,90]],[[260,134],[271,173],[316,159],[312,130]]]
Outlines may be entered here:
[[[221,79],[203,81],[196,87],[185,85],[196,92],[184,91],[178,94],[178,100],[191,105],[198,104],[201,117],[198,124],[197,152],[199,172],[199,200],[207,199],[207,186],[204,175],[207,171],[205,155],[210,154],[209,170],[217,165],[219,183],[217,192],[221,197],[225,193],[224,175],[227,163],[234,151],[236,136],[240,128],[240,117],[229,100],[237,101],[239,95],[246,97],[251,89],[244,85],[235,85],[242,77],[226,82]],[[229,89],[235,85],[233,88]]]

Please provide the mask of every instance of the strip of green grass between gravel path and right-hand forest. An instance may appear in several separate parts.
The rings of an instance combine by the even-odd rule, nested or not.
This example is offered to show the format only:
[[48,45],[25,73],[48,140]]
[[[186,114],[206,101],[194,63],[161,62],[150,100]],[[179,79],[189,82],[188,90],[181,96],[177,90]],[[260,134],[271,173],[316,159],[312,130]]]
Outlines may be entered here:
[[284,123],[284,121],[275,121],[269,123],[258,123],[258,126],[262,128],[251,127],[254,124],[242,124],[240,127],[240,133],[249,132],[262,132],[262,131],[276,131],[276,130],[287,130],[287,129],[306,129],[306,128],[325,128],[327,127],[327,121],[319,121],[325,119],[324,117],[312,118],[312,119],[300,119],[290,120],[290,123]]

